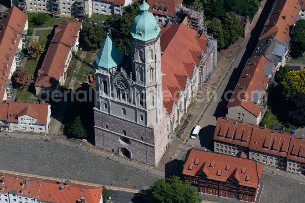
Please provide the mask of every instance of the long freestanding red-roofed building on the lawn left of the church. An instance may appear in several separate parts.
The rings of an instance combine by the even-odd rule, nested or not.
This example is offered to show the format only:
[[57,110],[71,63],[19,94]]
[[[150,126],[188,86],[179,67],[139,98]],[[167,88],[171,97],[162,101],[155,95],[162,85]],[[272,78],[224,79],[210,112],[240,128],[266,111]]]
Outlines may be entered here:
[[77,52],[82,23],[62,19],[48,47],[35,81],[36,94],[42,90],[49,95],[65,83],[72,52]]

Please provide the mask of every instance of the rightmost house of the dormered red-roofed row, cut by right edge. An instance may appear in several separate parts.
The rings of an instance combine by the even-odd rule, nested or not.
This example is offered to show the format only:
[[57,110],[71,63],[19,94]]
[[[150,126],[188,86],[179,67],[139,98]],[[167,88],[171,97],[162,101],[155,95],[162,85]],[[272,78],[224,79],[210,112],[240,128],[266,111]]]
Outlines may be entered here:
[[302,138],[292,137],[289,144],[287,155],[286,170],[292,173],[305,172],[305,140]]

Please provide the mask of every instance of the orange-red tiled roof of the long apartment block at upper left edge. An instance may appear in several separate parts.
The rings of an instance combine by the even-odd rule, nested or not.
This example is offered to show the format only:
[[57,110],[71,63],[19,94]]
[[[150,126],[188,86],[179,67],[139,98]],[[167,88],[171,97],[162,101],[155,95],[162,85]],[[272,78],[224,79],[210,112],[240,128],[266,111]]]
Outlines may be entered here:
[[3,12],[4,15],[6,17],[0,20],[0,102],[4,98],[10,69],[27,23],[27,15],[16,6]]

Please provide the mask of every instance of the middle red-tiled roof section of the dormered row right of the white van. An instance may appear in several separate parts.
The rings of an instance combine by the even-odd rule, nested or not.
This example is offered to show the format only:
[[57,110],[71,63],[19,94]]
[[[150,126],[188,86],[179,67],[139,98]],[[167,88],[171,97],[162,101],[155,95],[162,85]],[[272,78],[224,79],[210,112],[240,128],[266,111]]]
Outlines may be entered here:
[[262,127],[254,127],[249,149],[265,152],[273,155],[287,157],[290,133],[284,133]]

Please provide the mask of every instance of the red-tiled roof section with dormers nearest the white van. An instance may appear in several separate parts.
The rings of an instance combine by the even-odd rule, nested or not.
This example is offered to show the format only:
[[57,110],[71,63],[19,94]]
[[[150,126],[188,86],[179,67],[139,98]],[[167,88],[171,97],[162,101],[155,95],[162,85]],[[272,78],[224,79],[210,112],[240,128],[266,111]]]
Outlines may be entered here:
[[253,127],[256,125],[219,117],[213,139],[249,148]]

